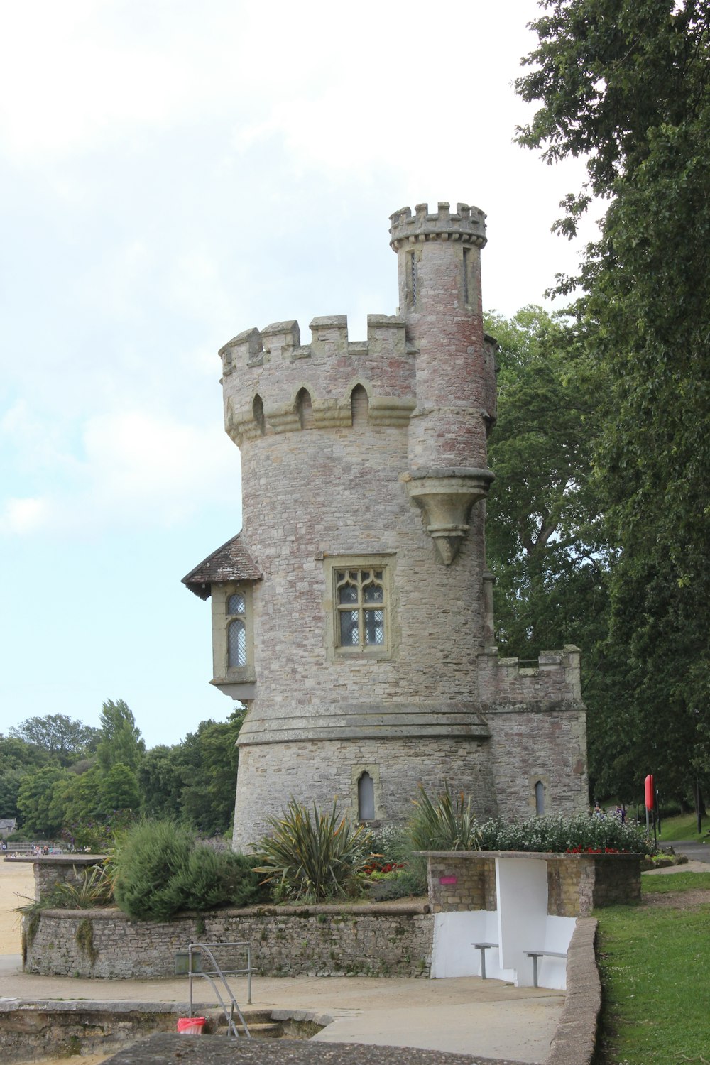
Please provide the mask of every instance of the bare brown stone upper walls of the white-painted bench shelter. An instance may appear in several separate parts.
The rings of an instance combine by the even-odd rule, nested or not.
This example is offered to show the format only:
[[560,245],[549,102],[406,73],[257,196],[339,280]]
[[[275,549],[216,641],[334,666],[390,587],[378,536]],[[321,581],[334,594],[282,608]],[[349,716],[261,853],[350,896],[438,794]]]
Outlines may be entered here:
[[547,863],[547,913],[588,917],[593,910],[641,899],[640,854],[532,851],[425,851],[433,913],[497,910],[495,859]]

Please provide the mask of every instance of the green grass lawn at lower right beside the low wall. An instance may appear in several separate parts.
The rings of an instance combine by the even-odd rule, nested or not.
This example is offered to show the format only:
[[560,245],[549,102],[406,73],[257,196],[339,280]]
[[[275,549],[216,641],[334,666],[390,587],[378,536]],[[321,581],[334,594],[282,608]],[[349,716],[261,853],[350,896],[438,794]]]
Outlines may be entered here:
[[[642,876],[644,895],[708,887],[710,873]],[[710,1061],[710,905],[613,906],[595,916],[604,989],[597,1065]]]

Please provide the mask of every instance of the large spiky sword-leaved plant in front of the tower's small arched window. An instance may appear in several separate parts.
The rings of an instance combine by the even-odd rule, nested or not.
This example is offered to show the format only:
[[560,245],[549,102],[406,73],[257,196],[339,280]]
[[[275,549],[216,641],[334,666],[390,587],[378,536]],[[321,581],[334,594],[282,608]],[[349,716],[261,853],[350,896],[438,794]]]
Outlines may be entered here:
[[265,883],[295,899],[304,896],[315,902],[352,888],[354,872],[367,835],[364,825],[352,829],[339,817],[336,803],[330,815],[291,800],[281,817],[267,819],[271,832],[255,845],[254,871],[267,873]]

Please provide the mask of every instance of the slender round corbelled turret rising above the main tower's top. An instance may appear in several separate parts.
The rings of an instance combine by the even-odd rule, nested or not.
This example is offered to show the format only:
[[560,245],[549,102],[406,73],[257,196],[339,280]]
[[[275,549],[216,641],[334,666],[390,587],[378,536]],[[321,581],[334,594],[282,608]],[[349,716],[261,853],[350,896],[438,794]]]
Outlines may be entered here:
[[478,208],[418,203],[391,216],[397,252],[399,314],[417,350],[417,406],[409,430],[408,488],[427,531],[449,566],[488,494],[486,433],[495,421],[495,364],[483,333]]

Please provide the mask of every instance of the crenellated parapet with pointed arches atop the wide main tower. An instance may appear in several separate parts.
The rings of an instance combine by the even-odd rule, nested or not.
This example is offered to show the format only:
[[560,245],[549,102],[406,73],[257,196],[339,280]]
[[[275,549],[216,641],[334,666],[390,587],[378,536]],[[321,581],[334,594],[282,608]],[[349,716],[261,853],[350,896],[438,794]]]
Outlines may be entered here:
[[367,340],[351,341],[346,315],[316,317],[311,343],[298,323],[238,333],[219,351],[225,427],[234,442],[300,429],[352,425],[353,390],[371,426],[407,427],[416,407],[416,349],[402,318],[369,314]]

